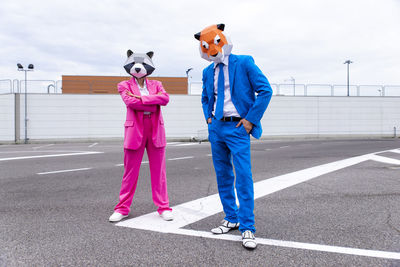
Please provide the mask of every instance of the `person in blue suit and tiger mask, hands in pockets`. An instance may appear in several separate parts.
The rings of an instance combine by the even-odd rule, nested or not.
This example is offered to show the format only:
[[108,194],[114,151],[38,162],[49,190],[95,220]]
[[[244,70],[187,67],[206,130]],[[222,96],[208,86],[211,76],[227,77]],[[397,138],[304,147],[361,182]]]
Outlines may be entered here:
[[211,25],[195,34],[200,41],[201,57],[213,62],[203,70],[201,102],[226,215],[211,232],[225,234],[239,228],[243,246],[254,249],[257,242],[250,135],[261,137],[260,120],[271,100],[272,89],[251,56],[231,54],[232,43],[223,32],[224,27]]

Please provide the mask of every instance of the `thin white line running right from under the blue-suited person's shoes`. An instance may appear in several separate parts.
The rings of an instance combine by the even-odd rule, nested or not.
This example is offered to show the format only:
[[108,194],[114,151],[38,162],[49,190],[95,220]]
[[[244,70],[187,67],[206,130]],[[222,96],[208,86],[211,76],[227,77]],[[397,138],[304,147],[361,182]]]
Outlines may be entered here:
[[[195,231],[195,230],[190,230],[190,229],[178,229],[173,233],[180,234],[180,235],[187,235],[187,236],[196,236],[196,237],[203,237],[203,238],[222,239],[222,240],[242,242],[242,237],[240,235],[230,235],[230,234],[214,235],[211,232]],[[341,254],[348,254],[348,255],[357,255],[357,256],[366,256],[366,257],[374,257],[374,258],[384,258],[384,259],[396,259],[396,260],[400,259],[400,253],[398,253],[398,252],[358,249],[358,248],[349,248],[349,247],[337,247],[337,246],[301,243],[301,242],[293,242],[293,241],[266,239],[266,238],[259,238],[259,237],[257,237],[256,240],[257,240],[258,244],[263,244],[263,245],[267,245],[267,246],[307,249],[307,250],[315,250],[315,251],[322,251],[322,252],[341,253]]]

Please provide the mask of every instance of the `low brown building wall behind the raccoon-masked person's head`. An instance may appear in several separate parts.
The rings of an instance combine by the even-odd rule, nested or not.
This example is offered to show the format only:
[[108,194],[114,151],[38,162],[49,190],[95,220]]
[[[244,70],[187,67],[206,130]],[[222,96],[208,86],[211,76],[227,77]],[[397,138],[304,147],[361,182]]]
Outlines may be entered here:
[[[62,76],[63,94],[118,94],[117,84],[128,76]],[[169,94],[187,94],[186,77],[149,77],[161,81]]]

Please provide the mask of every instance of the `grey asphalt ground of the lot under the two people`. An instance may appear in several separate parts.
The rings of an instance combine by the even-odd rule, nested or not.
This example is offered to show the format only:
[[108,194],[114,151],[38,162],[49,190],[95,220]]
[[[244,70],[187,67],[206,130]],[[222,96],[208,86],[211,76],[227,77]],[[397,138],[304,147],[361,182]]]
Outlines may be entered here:
[[[389,151],[398,148],[393,139],[255,141],[253,178],[368,153],[400,160]],[[167,146],[171,206],[217,193],[210,153],[208,143]],[[120,142],[0,145],[0,267],[400,266],[400,259],[353,253],[400,257],[400,165],[366,160],[256,199],[256,237],[277,243],[248,251],[231,240],[109,223],[122,162]],[[155,210],[144,163],[128,219]],[[209,231],[222,218],[218,213],[184,229]],[[329,252],[324,245],[348,250]]]

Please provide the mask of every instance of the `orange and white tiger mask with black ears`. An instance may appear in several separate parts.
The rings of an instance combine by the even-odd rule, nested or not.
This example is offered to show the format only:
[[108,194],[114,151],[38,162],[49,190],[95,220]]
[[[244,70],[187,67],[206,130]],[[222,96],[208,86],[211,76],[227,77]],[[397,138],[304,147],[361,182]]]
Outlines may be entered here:
[[194,35],[200,41],[200,56],[220,63],[232,51],[232,42],[224,34],[225,24],[211,25]]

